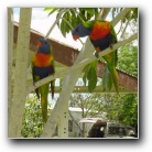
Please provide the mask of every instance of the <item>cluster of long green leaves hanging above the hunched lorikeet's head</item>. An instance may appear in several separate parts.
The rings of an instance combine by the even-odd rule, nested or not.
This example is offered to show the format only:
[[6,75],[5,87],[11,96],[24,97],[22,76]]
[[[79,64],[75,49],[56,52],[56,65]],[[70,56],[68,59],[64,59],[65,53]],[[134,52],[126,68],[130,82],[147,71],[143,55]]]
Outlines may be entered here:
[[[44,11],[48,11],[48,15],[57,12],[56,18],[64,9],[58,8],[45,8]],[[98,8],[70,8],[68,11],[63,12],[62,20],[57,23],[63,36],[66,36],[77,24],[89,21],[90,19],[97,19]]]

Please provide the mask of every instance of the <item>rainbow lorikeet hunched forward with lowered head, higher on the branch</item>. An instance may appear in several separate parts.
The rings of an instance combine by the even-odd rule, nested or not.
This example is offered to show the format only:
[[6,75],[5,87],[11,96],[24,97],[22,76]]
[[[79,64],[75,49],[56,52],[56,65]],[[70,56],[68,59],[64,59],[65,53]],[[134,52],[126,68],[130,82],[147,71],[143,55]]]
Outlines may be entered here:
[[[108,21],[93,20],[78,24],[73,31],[74,40],[79,37],[89,36],[91,44],[95,47],[95,56],[98,58],[98,53],[111,47],[117,43],[117,35],[112,24]],[[117,65],[117,51],[111,52],[104,56],[106,66],[109,70],[109,78],[112,79],[116,90],[118,91],[118,74],[116,70]],[[108,75],[107,75],[108,76]]]

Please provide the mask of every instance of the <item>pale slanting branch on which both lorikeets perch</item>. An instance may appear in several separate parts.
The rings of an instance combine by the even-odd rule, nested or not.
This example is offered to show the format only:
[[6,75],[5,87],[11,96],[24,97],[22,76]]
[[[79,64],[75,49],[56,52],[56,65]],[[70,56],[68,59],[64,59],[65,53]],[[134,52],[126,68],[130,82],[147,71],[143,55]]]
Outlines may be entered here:
[[[106,48],[105,51],[102,51],[102,52],[99,53],[99,56],[100,56],[100,57],[101,57],[101,56],[105,56],[105,55],[107,55],[107,54],[113,52],[115,50],[119,48],[120,46],[126,45],[126,44],[128,44],[128,43],[130,43],[130,42],[132,42],[133,40],[137,40],[137,39],[138,39],[138,33],[133,34],[132,36],[130,36],[130,37],[127,39],[127,40],[123,40],[123,41],[120,41],[120,42],[116,43],[116,44],[113,45],[113,50],[111,50],[111,48],[109,48],[109,47]],[[31,86],[29,87],[29,89],[28,89],[28,93],[31,93],[32,90],[36,89],[37,87],[40,87],[40,86],[42,86],[42,85],[44,85],[44,84],[46,84],[46,83],[48,83],[48,82],[51,82],[51,80],[53,80],[53,79],[63,77],[63,76],[65,76],[66,74],[69,74],[69,73],[72,73],[72,72],[74,72],[75,69],[78,69],[79,67],[82,67],[82,66],[84,66],[84,65],[87,65],[87,64],[89,64],[90,62],[93,62],[93,61],[95,61],[95,59],[97,59],[97,58],[93,55],[93,56],[89,57],[89,58],[85,58],[84,61],[82,61],[82,62],[78,63],[77,65],[73,65],[73,66],[70,66],[70,67],[68,67],[68,68],[66,68],[66,69],[58,70],[58,72],[55,73],[55,75],[48,76],[48,77],[46,77],[46,78],[44,78],[44,79],[41,79],[41,80],[36,82],[34,86],[31,85]]]

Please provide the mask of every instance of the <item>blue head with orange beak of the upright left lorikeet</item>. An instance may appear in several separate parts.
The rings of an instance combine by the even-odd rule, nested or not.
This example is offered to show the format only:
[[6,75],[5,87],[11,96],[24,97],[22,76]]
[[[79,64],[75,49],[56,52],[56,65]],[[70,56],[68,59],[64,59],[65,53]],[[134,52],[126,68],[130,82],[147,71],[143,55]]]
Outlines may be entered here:
[[41,37],[37,42],[37,53],[50,54],[51,53],[51,44],[47,40]]

